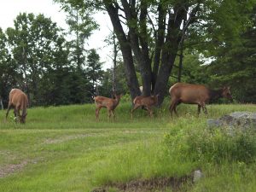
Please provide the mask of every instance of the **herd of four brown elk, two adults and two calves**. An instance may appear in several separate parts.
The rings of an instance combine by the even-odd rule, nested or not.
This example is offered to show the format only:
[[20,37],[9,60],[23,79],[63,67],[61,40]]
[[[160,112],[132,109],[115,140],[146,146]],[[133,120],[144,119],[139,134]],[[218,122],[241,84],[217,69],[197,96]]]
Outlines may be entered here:
[[[176,113],[177,115],[177,105],[180,103],[187,104],[197,104],[198,105],[198,115],[201,113],[201,108],[204,110],[204,113],[207,114],[206,103],[212,100],[218,99],[220,97],[225,97],[232,100],[232,96],[230,94],[230,88],[224,87],[220,90],[211,90],[208,89],[205,85],[201,84],[185,84],[185,83],[177,83],[172,85],[169,90],[171,95],[171,105],[170,112]],[[99,113],[101,108],[108,109],[108,120],[110,120],[111,115],[114,119],[114,109],[119,105],[119,101],[122,95],[117,96],[114,94],[113,98],[108,98],[105,96],[95,96],[94,100],[96,103],[96,119],[99,119]],[[151,109],[152,106],[157,104],[158,95],[156,96],[136,96],[133,100],[133,108],[131,109],[131,118],[133,112],[139,108],[145,108],[148,110],[148,114],[150,117],[153,117],[153,111]],[[17,121],[17,117],[20,119],[20,123],[25,123],[26,121],[26,108],[28,106],[28,100],[26,94],[19,89],[12,89],[9,92],[9,105],[6,113],[6,119],[9,114],[9,109],[11,107],[15,108],[15,120]],[[20,110],[22,111],[20,115]]]

